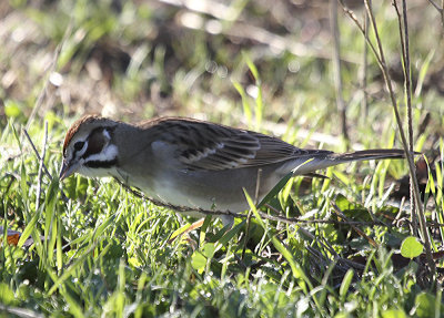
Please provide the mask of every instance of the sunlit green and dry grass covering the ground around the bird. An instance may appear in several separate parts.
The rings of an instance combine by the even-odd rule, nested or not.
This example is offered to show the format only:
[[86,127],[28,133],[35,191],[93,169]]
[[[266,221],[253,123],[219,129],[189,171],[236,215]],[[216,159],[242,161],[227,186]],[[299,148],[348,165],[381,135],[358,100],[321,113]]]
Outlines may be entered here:
[[[443,57],[435,40],[441,37],[441,18],[432,6],[414,3],[408,14],[413,91],[418,92],[413,95],[415,131],[430,117],[416,135],[415,150],[430,160],[430,170],[418,171],[424,174],[420,183],[437,257],[434,281],[428,280],[423,257],[414,258],[421,252],[402,245],[411,237],[405,222],[408,198],[401,198],[408,187],[400,182],[407,174],[403,161],[353,163],[329,168],[326,179],[291,179],[269,207],[261,212],[253,206],[250,222],[239,218],[229,229],[209,217],[200,230],[175,239],[170,238],[191,219],[113,181],[81,176],[63,185],[57,181],[64,132],[83,112],[131,121],[192,114],[339,152],[349,146],[400,147],[390,99],[373,58],[365,88],[370,109],[363,115],[356,61],[364,40],[345,14],[340,14],[339,27],[351,142],[341,139],[333,69],[325,59],[331,43],[325,40],[323,7],[302,2],[297,8],[285,4],[294,19],[284,14],[281,22],[272,19],[276,12],[264,13],[263,3],[243,1],[223,9],[240,14],[234,21],[157,1],[125,2],[120,8],[107,1],[3,4],[0,21],[10,37],[0,49],[4,65],[0,222],[3,229],[17,230],[21,237],[3,232],[0,238],[1,316],[443,315],[438,256],[444,238],[442,226],[434,222],[444,219],[444,114],[442,92],[431,80],[442,71]],[[403,83],[395,76],[400,70],[398,38],[393,35],[396,14],[386,3],[374,6],[402,104]],[[190,27],[199,21],[212,21],[213,27],[219,22],[221,31]],[[289,21],[299,23],[293,33]],[[307,27],[314,22],[319,29]],[[431,28],[423,28],[424,23]],[[250,39],[255,35],[251,30],[241,34],[248,39],[233,37],[233,25],[273,32],[274,39],[302,43],[310,54],[297,57],[272,43],[260,44]],[[51,64],[54,57],[57,64]],[[51,66],[61,82],[47,72]],[[46,148],[43,162],[53,178],[42,172],[22,133],[34,109],[27,131],[40,154]],[[43,123],[48,124],[44,145]],[[269,219],[275,209],[297,222]]]

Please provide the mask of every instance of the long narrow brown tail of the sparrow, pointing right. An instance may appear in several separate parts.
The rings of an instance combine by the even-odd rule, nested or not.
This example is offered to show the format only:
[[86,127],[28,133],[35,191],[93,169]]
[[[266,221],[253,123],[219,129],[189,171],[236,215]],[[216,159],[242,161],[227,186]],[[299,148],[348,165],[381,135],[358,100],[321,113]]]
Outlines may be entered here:
[[326,168],[329,166],[334,166],[353,161],[403,157],[405,157],[405,152],[403,150],[367,150],[343,154],[329,152],[317,154],[311,153],[304,156],[300,156],[295,161],[289,162],[289,164],[282,167],[281,172],[289,173],[290,171],[293,171],[295,175],[306,175],[321,168]]

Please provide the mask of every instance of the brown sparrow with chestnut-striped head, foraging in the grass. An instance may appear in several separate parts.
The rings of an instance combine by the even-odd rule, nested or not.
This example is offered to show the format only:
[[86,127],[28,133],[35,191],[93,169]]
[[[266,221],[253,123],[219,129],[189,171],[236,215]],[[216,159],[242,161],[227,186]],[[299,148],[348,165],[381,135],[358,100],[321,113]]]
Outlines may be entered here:
[[262,199],[283,177],[342,163],[404,157],[403,150],[334,153],[258,132],[186,117],[130,124],[85,115],[68,130],[60,181],[111,176],[175,211],[240,213],[245,192]]

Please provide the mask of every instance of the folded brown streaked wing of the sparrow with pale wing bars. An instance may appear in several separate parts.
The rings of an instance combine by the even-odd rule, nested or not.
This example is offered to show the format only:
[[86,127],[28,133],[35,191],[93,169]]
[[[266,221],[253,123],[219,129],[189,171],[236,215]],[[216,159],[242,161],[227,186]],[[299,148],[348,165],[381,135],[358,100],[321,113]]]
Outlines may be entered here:
[[159,120],[152,131],[155,140],[174,145],[179,162],[193,171],[262,166],[331,153],[301,150],[260,133],[184,119]]

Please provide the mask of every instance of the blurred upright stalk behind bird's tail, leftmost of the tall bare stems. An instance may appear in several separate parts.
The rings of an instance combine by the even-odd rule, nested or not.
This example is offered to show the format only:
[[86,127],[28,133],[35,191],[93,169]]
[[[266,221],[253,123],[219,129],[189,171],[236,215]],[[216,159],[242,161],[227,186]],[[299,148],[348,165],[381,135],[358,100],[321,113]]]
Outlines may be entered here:
[[342,76],[341,76],[341,39],[340,39],[340,28],[337,25],[337,2],[336,0],[330,0],[331,2],[331,13],[330,13],[330,21],[331,21],[331,29],[332,29],[332,38],[333,38],[333,79],[334,79],[334,89],[336,93],[336,105],[337,111],[340,113],[341,120],[341,131],[342,136],[345,141],[349,142],[349,132],[346,125],[346,106],[343,96],[342,90]]

